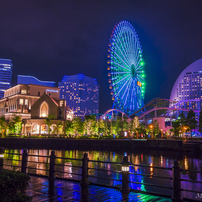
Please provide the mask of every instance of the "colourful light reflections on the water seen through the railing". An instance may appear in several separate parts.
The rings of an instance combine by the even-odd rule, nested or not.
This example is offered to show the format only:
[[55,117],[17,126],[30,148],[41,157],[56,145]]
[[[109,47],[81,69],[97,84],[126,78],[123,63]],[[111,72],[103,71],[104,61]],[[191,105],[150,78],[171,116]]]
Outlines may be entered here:
[[[23,150],[10,150],[6,149],[6,153],[14,153],[14,154],[5,154],[4,163],[8,166],[4,166],[4,168],[12,169],[12,170],[20,170],[21,159]],[[98,160],[98,161],[112,161],[112,162],[122,162],[124,155],[126,153],[117,153],[117,152],[108,152],[108,151],[78,151],[78,150],[56,150],[56,176],[61,178],[69,178],[80,180],[81,176],[75,174],[81,174],[81,168],[76,168],[74,166],[81,166],[81,161],[69,160],[63,158],[77,158],[82,159],[83,153],[88,153],[88,157],[90,160]],[[51,150],[34,150],[30,149],[28,151],[28,173],[46,175],[48,176],[49,172],[49,161],[48,156],[51,154]],[[172,157],[165,157],[164,155],[154,156],[148,155],[144,153],[136,153],[136,154],[127,154],[128,159],[133,164],[144,164],[149,165],[148,167],[139,167],[139,166],[130,166],[130,173],[134,173],[129,175],[129,180],[132,182],[145,183],[145,184],[135,184],[131,183],[130,187],[132,189],[142,190],[142,191],[153,191],[160,192],[164,194],[171,195],[172,190],[165,188],[155,188],[148,186],[149,184],[158,184],[162,186],[171,187],[172,180],[155,178],[155,176],[164,176],[164,177],[172,177],[172,171],[170,170],[162,170],[155,169],[154,166],[159,167],[169,167],[171,168],[173,165]],[[59,158],[60,157],[60,158]],[[62,158],[62,159],[61,159]],[[180,166],[186,170],[200,170],[202,171],[202,160],[184,156],[180,159]],[[116,164],[107,164],[107,163],[97,163],[97,162],[89,162],[89,168],[100,168],[106,169],[108,171],[98,171],[89,169],[88,173],[91,176],[100,176],[106,177],[114,180],[105,180],[105,179],[97,179],[93,177],[89,177],[89,180],[94,183],[99,184],[108,184],[111,186],[121,186],[122,176],[121,173],[110,172],[109,170],[121,171],[121,166]],[[148,174],[148,176],[141,176],[138,174]],[[202,181],[202,174],[197,173],[182,173],[182,178],[186,180],[197,180]],[[201,192],[202,184],[199,183],[190,183],[190,182],[182,182],[183,189],[192,189],[195,191]],[[60,189],[58,188],[58,192]],[[194,198],[195,194],[191,194],[189,192],[182,192],[182,195],[187,198]]]

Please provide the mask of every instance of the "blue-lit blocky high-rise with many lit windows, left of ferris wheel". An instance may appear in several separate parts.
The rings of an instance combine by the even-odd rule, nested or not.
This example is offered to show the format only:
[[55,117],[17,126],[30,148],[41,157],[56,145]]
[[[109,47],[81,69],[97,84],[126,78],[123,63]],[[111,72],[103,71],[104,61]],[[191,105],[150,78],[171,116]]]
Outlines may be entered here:
[[97,80],[83,74],[64,76],[59,82],[60,99],[81,117],[99,113],[99,86]]

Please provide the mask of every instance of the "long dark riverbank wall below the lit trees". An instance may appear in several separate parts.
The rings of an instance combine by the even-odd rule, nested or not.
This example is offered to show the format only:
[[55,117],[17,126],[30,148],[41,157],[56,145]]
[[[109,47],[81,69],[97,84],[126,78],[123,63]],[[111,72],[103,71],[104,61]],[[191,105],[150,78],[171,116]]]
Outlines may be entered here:
[[0,138],[0,147],[13,149],[202,152],[201,141],[146,139]]

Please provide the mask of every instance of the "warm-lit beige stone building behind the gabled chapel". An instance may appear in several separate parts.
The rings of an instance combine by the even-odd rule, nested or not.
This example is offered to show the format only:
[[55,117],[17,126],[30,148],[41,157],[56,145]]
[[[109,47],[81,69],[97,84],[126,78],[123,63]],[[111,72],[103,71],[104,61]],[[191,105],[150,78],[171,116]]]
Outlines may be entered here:
[[0,116],[5,116],[7,120],[14,114],[22,119],[31,118],[31,107],[43,94],[59,99],[56,87],[18,84],[5,90],[4,98],[0,100]]

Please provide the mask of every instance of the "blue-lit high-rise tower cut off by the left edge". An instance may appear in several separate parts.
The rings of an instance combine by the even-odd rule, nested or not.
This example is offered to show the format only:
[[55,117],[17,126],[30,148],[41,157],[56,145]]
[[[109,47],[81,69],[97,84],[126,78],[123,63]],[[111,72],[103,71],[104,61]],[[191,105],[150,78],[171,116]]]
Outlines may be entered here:
[[11,87],[12,63],[8,59],[0,59],[0,99],[4,91]]

